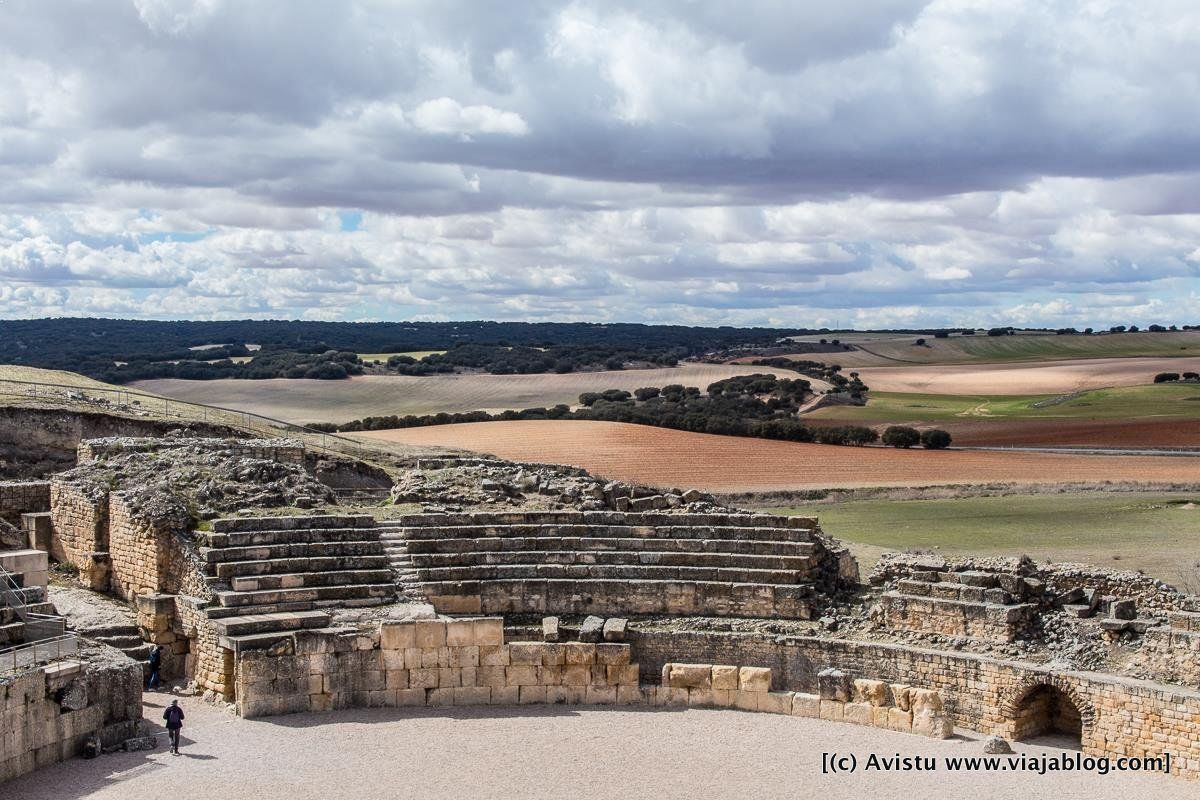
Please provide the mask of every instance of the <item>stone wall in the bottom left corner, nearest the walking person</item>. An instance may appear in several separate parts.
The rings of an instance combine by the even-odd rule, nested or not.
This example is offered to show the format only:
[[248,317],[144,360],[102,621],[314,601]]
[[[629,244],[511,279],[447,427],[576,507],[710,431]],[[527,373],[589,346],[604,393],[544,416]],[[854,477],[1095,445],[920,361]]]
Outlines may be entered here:
[[138,733],[142,666],[60,661],[0,676],[0,783]]

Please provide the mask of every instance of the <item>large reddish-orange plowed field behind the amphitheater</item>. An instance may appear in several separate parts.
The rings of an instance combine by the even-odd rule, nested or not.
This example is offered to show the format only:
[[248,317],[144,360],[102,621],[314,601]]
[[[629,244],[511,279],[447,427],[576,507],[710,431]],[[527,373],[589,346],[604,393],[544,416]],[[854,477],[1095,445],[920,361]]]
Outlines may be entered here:
[[623,422],[476,422],[356,434],[514,461],[572,464],[612,479],[713,492],[935,483],[1200,482],[1200,458],[839,447]]

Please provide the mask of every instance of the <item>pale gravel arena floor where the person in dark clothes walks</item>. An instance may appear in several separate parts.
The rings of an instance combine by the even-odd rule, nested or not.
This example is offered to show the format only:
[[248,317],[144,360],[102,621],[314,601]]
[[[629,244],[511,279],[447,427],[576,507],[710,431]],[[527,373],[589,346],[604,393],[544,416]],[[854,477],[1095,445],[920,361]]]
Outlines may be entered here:
[[[146,698],[158,720],[167,694]],[[1160,775],[864,772],[880,756],[974,756],[978,739],[917,736],[768,714],[563,706],[370,709],[239,720],[182,698],[182,754],[115,753],[28,775],[22,800],[384,798],[1192,798]],[[1018,753],[1063,753],[1016,745]],[[822,775],[822,752],[853,753]]]

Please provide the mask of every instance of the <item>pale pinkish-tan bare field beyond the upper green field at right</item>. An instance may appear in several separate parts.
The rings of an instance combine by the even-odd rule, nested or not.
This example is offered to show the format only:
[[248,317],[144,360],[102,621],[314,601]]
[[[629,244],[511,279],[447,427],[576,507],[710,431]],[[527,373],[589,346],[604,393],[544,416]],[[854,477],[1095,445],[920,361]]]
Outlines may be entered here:
[[1079,359],[1040,363],[859,367],[875,391],[928,395],[1054,395],[1148,384],[1159,372],[1200,372],[1200,359]]

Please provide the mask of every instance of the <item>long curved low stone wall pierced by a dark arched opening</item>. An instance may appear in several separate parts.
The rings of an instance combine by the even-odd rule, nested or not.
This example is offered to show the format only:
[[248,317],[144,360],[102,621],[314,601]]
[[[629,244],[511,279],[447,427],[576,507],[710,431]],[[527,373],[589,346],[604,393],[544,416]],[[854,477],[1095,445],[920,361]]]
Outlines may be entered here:
[[1009,738],[1026,699],[1046,686],[1079,711],[1085,753],[1170,751],[1172,771],[1200,777],[1200,692],[1189,688],[898,644],[754,633],[637,631],[632,636],[642,680],[680,660],[754,663],[772,668],[776,690],[815,692],[818,673],[835,668],[851,678],[938,690],[955,724]]

